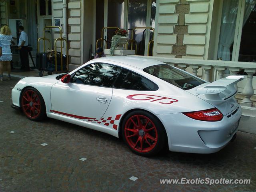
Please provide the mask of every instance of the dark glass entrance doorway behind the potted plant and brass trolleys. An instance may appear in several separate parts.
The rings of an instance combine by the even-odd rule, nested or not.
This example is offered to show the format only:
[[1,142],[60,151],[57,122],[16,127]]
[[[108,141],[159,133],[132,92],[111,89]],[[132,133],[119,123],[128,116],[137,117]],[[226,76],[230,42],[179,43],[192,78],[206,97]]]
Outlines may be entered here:
[[[132,38],[132,29],[135,27],[155,27],[156,0],[96,0],[95,4],[95,44],[96,40],[101,38],[103,27],[125,29],[128,31],[129,38]],[[104,30],[103,37],[108,41],[107,48],[110,48],[115,30]],[[153,33],[149,29],[134,30],[137,55],[147,55],[148,43],[152,38]],[[128,48],[130,48],[130,45]],[[152,46],[150,47],[150,55],[152,55]]]

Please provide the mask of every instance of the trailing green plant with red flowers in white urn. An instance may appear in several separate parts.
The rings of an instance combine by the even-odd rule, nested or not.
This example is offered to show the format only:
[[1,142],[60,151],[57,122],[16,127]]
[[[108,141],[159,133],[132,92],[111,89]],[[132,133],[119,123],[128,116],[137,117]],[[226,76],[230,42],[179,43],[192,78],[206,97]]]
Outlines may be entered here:
[[124,29],[118,29],[111,40],[110,55],[114,55],[115,49],[124,50],[124,44],[129,40],[128,32]]

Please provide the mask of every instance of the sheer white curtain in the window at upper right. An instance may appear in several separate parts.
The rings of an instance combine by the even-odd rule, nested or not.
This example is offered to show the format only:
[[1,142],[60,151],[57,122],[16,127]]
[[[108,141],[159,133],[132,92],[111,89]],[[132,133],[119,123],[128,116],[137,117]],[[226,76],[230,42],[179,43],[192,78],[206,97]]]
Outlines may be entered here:
[[223,2],[218,58],[225,61],[230,61],[230,46],[234,42],[237,9],[238,0],[225,0]]

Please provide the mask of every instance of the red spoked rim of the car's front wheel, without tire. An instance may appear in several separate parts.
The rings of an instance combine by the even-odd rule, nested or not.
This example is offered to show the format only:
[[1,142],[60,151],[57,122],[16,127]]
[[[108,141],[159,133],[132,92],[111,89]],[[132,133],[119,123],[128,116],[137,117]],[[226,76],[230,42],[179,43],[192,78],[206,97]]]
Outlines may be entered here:
[[22,110],[30,119],[35,119],[40,115],[41,102],[38,94],[33,90],[26,90],[22,94]]

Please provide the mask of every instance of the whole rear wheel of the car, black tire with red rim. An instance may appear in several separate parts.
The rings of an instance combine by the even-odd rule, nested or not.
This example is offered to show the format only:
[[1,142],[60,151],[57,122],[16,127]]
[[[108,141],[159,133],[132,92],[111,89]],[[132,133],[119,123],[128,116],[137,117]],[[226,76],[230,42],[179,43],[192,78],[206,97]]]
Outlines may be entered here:
[[[136,119],[140,120],[142,128],[138,126],[139,121],[137,120],[136,122]],[[134,125],[133,122],[136,125]],[[152,129],[150,127],[155,128],[148,132],[148,130]],[[134,130],[130,131],[130,129],[136,129],[136,132],[138,130],[138,133],[134,133]],[[140,131],[140,129],[142,129],[142,131]],[[130,132],[132,133],[130,134]],[[148,138],[149,136],[157,140],[151,140]],[[139,137],[141,140],[143,140],[142,147],[138,146],[139,142],[141,141]],[[167,144],[166,131],[160,120],[150,112],[146,112],[144,110],[132,111],[124,117],[122,120],[122,138],[132,152],[141,156],[155,155]]]

